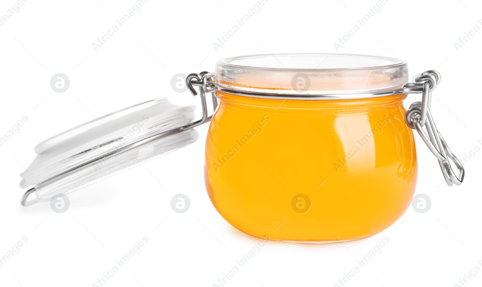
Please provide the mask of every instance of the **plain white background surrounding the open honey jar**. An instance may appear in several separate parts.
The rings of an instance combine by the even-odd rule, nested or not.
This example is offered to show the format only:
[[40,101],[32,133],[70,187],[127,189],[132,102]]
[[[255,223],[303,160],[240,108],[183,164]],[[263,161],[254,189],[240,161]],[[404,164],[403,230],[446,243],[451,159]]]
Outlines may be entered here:
[[[213,71],[215,61],[226,56],[336,52],[338,37],[377,3],[341,1],[269,0],[217,52],[213,42],[256,0],[149,0],[97,52],[92,43],[135,0],[25,2],[0,26],[0,134],[28,117],[0,147],[0,256],[22,236],[28,241],[0,268],[0,285],[93,286],[143,236],[149,241],[141,252],[105,286],[217,283],[259,239],[223,220],[201,184],[207,125],[198,129],[198,142],[69,195],[70,209],[63,214],[48,203],[22,207],[25,190],[18,187],[18,174],[34,158],[37,143],[94,117],[156,97],[198,104],[188,92],[173,91],[174,74]],[[411,77],[440,71],[432,101],[437,127],[455,155],[474,155],[465,164],[462,186],[442,184],[435,157],[416,135],[415,194],[430,196],[427,213],[409,207],[387,230],[361,241],[268,242],[225,286],[334,286],[384,236],[390,240],[382,252],[346,286],[454,286],[474,266],[482,269],[477,263],[482,260],[482,152],[471,152],[482,148],[482,31],[458,52],[454,46],[473,26],[482,28],[477,22],[482,4],[462,2],[389,0],[338,51],[396,56],[409,62]],[[14,3],[2,0],[0,15]],[[56,73],[70,78],[64,93],[50,87]],[[409,96],[405,106],[419,98]],[[191,200],[183,214],[170,207],[178,193]],[[471,279],[469,286],[480,286],[482,272]]]

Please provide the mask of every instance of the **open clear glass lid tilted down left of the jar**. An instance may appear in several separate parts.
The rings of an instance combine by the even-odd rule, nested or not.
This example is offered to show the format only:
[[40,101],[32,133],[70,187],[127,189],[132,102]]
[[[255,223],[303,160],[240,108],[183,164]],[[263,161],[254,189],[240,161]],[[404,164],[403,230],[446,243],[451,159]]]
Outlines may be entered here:
[[159,98],[96,118],[35,147],[37,156],[20,174],[30,188],[23,205],[68,194],[120,171],[179,149],[199,138],[194,106]]

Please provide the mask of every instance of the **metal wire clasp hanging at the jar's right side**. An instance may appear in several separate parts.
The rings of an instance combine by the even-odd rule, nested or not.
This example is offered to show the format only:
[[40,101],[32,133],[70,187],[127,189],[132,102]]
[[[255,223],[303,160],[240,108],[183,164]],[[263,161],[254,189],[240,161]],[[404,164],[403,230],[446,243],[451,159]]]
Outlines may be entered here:
[[[442,134],[437,130],[435,122],[430,113],[430,104],[432,98],[432,91],[435,90],[437,84],[440,83],[441,76],[439,72],[435,70],[428,70],[422,73],[420,76],[415,76],[416,83],[408,83],[405,85],[407,93],[422,93],[422,101],[415,102],[410,105],[410,108],[405,113],[405,123],[418,132],[422,140],[427,144],[428,149],[439,160],[440,169],[442,170],[443,177],[448,186],[460,185],[464,180],[465,170],[460,161],[455,157],[447,143],[442,137]],[[422,88],[420,89],[414,89]],[[428,132],[425,133],[423,127]],[[455,174],[452,169],[452,165],[448,158],[450,158],[457,167],[459,175]]]

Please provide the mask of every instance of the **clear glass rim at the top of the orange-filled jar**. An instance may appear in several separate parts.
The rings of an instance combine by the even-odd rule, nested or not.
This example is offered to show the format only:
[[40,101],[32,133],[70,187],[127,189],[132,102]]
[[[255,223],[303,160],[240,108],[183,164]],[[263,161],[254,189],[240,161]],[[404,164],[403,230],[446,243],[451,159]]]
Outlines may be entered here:
[[217,61],[214,81],[219,91],[251,97],[369,98],[403,91],[408,67],[383,56],[259,54]]

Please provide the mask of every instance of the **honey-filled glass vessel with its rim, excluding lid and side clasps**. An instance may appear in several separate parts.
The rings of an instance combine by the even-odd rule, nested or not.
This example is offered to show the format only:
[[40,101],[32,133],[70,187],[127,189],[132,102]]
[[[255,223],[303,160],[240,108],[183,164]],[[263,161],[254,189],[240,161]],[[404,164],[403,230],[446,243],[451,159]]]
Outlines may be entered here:
[[209,197],[249,235],[338,242],[375,235],[414,196],[407,64],[343,54],[220,60],[206,140]]

